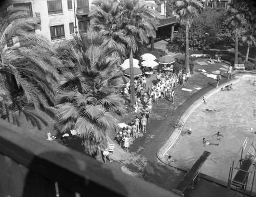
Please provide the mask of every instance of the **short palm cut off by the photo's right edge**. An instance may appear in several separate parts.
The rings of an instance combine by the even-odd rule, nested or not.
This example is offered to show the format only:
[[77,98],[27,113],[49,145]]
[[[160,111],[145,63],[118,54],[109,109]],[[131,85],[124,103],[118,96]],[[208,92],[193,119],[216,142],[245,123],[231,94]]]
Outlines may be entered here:
[[242,41],[247,45],[247,51],[245,61],[248,61],[249,51],[252,46],[256,46],[256,17],[254,17],[247,25],[245,35],[242,37]]

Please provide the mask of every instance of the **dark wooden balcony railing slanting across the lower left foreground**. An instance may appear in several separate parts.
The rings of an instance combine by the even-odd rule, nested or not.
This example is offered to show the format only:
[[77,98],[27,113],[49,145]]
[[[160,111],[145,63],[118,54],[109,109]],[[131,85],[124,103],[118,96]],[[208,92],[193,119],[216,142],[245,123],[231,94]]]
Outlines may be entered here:
[[178,196],[3,120],[0,166],[4,197]]

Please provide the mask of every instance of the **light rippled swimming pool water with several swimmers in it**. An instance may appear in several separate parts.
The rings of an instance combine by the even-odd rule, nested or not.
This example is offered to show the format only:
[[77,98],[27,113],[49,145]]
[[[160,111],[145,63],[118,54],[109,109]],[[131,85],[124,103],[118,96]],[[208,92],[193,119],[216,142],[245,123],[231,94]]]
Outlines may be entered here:
[[[232,90],[220,90],[209,97],[207,104],[201,104],[190,114],[184,130],[191,128],[192,134],[179,136],[166,154],[173,156],[175,165],[191,168],[201,154],[208,151],[211,155],[203,164],[201,173],[227,183],[232,161],[236,164],[240,160],[241,153],[238,152],[244,140],[248,137],[246,153],[256,137],[256,86],[252,84],[254,80],[256,78],[242,78],[233,85]],[[253,128],[253,132],[249,131],[250,128]],[[212,136],[218,131],[224,136],[220,141],[217,136]],[[219,145],[204,147],[203,138]],[[253,191],[255,192],[255,187]]]

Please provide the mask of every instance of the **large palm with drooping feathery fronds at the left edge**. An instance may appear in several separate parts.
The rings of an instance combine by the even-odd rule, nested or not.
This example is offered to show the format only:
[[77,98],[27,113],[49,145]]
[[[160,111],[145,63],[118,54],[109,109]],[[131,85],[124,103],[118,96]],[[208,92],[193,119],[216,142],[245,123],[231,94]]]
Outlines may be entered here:
[[18,124],[15,112],[23,112],[40,129],[42,119],[25,106],[38,111],[54,105],[58,75],[53,67],[60,62],[46,38],[34,33],[38,21],[26,11],[11,7],[0,11],[0,89],[4,95],[0,116]]

